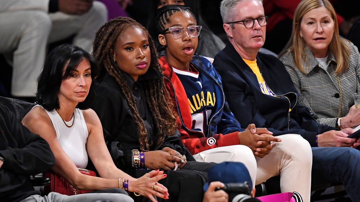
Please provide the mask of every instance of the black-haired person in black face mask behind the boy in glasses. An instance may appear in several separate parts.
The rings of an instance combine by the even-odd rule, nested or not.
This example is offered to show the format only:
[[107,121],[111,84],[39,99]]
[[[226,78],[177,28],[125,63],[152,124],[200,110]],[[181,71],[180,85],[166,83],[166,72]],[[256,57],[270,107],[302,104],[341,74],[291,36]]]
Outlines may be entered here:
[[[198,24],[202,26],[198,48],[195,51],[195,54],[214,58],[215,55],[225,47],[225,44],[210,30],[206,22],[201,17],[199,0],[153,0],[152,7],[150,9],[150,18],[147,24],[147,29],[149,30],[150,35],[152,38],[157,39],[158,35],[161,34],[156,31],[157,14],[163,9],[179,5],[189,7],[194,13]],[[154,42],[159,52],[165,50],[164,47],[159,44],[158,40],[154,40]]]

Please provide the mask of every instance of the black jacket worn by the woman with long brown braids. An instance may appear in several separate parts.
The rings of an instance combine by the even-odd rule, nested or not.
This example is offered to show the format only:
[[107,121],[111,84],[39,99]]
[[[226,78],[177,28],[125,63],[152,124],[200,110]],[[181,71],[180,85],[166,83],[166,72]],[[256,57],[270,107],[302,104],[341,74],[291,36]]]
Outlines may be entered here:
[[[134,91],[138,90],[135,89],[135,86],[140,86],[139,90],[142,90],[141,81],[161,77],[161,73],[149,68],[147,73],[141,75],[138,82],[135,82],[136,85],[134,83],[129,84],[129,82],[128,84]],[[130,174],[134,169],[131,165],[131,150],[140,150],[135,120],[117,81],[105,72],[100,75],[97,82],[98,84],[95,87],[96,103],[91,108],[98,114],[102,126],[106,130],[104,130],[105,142],[107,143],[114,162],[121,170]],[[134,86],[132,86],[133,84]],[[145,107],[148,108],[147,105]],[[146,109],[146,111],[148,111],[148,109]],[[156,128],[153,123],[147,126],[151,127],[153,131],[152,134],[148,134],[148,138],[153,141],[150,151],[170,147],[181,154],[185,154],[188,161],[194,160],[193,156],[181,142],[180,133],[177,130],[175,135],[165,137],[165,142],[162,145],[155,145]],[[121,151],[124,154],[123,157],[121,156]]]

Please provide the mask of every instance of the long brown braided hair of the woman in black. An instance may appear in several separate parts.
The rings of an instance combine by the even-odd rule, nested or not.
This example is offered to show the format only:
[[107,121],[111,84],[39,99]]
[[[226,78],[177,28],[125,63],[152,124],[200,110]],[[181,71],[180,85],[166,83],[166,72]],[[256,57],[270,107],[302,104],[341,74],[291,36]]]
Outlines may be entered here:
[[[99,31],[96,32],[95,41],[93,43],[93,56],[99,60],[102,73],[107,71],[120,85],[122,94],[126,97],[127,104],[130,107],[137,125],[140,149],[142,151],[149,151],[149,146],[152,143],[149,143],[148,141],[147,130],[144,121],[141,119],[138,109],[136,108],[136,101],[132,95],[132,89],[127,85],[127,82],[123,77],[123,74],[125,73],[118,67],[116,61],[113,61],[113,55],[111,54],[111,50],[114,49],[118,38],[129,28],[140,28],[147,34],[151,54],[149,68],[154,68],[162,73],[162,68],[157,59],[155,45],[148,31],[134,19],[127,17],[114,18],[100,27]],[[170,95],[165,90],[163,78],[141,82],[144,87],[147,104],[156,125],[158,138],[156,148],[158,148],[163,143],[165,136],[171,136],[175,133],[176,118],[171,110],[173,104],[171,100],[169,100]]]

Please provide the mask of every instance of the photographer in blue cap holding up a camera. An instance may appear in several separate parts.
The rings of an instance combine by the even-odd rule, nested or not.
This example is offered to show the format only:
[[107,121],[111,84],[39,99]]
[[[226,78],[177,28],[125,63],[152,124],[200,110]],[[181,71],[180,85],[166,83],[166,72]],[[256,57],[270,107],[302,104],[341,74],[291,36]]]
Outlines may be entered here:
[[203,202],[260,202],[253,198],[255,188],[252,188],[249,171],[240,162],[222,162],[212,166],[204,191]]

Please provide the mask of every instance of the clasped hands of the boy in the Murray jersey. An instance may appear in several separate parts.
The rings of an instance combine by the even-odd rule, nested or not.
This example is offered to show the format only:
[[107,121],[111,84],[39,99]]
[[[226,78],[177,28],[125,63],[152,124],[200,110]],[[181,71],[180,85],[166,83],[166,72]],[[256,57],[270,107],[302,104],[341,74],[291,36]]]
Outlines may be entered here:
[[239,132],[239,142],[248,146],[255,156],[263,158],[273,150],[276,142],[281,142],[281,139],[274,137],[266,128],[256,128],[255,124],[250,124],[243,132]]

